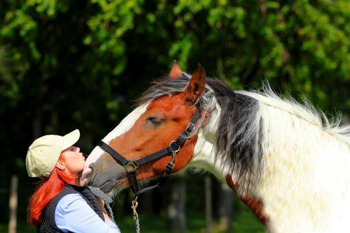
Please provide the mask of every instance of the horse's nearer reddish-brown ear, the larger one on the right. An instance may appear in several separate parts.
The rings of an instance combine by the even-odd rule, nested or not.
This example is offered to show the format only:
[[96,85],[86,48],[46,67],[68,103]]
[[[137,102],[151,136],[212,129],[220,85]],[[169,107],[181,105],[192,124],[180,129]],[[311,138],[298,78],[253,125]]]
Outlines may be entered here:
[[198,63],[197,68],[189,80],[186,89],[183,91],[185,100],[188,103],[194,103],[203,93],[205,88],[205,71]]

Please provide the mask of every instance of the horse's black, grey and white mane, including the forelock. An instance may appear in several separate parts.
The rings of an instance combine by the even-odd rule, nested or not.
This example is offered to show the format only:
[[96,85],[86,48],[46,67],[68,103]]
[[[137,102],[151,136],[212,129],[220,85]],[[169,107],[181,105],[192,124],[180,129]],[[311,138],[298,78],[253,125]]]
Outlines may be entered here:
[[[184,72],[182,74],[179,79],[163,77],[153,82],[154,85],[140,98],[141,104],[183,91],[190,75]],[[206,78],[205,90],[198,103],[210,115],[219,112],[219,120],[214,123],[217,126],[214,139],[215,160],[223,160],[229,165],[235,180],[244,186],[241,187],[243,191],[251,190],[250,185],[259,182],[265,168],[262,162],[264,107],[287,112],[337,139],[350,143],[350,126],[340,126],[341,115],[329,121],[325,113],[318,112],[306,100],[298,103],[290,96],[282,99],[272,91],[267,82],[260,91],[233,91],[217,79]],[[211,118],[208,122],[210,120]]]

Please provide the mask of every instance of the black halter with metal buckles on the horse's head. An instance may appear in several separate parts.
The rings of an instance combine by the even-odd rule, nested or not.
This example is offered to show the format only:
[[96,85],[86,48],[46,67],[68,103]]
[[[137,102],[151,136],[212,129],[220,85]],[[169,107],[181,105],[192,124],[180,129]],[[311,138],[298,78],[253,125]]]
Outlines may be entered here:
[[[157,151],[151,155],[148,155],[146,157],[138,159],[136,161],[125,159],[118,152],[116,152],[113,148],[111,148],[108,144],[106,144],[102,141],[99,141],[97,143],[97,146],[99,146],[105,152],[110,154],[116,160],[116,162],[118,162],[119,164],[121,164],[125,168],[128,176],[131,180],[131,185],[132,185],[131,189],[132,189],[132,192],[135,196],[135,199],[137,198],[138,195],[140,195],[143,192],[152,190],[152,189],[157,188],[157,187],[163,187],[165,185],[167,178],[170,176],[172,169],[174,168],[175,156],[176,156],[177,152],[180,150],[182,143],[184,141],[186,141],[187,137],[193,132],[193,130],[195,128],[195,123],[197,122],[197,120],[200,117],[201,110],[202,110],[201,107],[198,106],[197,110],[193,114],[192,119],[191,119],[190,123],[188,124],[188,126],[186,127],[186,129],[178,136],[178,138],[176,140],[170,142],[168,147],[166,147],[160,151]],[[136,179],[136,172],[135,172],[136,169],[139,166],[141,166],[142,164],[145,164],[145,163],[148,163],[152,160],[163,157],[164,155],[167,155],[169,153],[172,153],[172,158],[171,158],[171,161],[166,164],[165,171],[163,172],[163,174],[160,178],[160,181],[156,185],[149,186],[149,187],[146,187],[146,188],[139,190],[137,179]]]

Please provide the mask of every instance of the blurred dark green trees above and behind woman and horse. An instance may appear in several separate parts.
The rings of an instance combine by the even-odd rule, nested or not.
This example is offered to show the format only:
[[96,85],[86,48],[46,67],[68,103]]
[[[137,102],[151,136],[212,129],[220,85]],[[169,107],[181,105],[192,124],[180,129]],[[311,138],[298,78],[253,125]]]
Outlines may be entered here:
[[173,59],[348,114],[349,22],[348,0],[1,0],[1,188],[20,176],[24,219],[30,143],[79,128],[91,150]]

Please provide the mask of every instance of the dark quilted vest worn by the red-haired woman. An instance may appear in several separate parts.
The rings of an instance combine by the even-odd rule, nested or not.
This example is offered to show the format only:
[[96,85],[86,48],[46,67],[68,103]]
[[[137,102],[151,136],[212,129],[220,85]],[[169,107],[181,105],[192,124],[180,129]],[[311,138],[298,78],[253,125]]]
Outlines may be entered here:
[[[96,197],[91,193],[91,191],[84,186],[75,186],[75,185],[65,185],[60,194],[52,199],[48,206],[41,213],[42,223],[37,229],[38,233],[61,233],[56,223],[54,222],[54,212],[56,210],[59,200],[61,200],[65,195],[68,194],[79,194],[91,207],[91,209],[104,221],[102,210],[97,203]],[[77,217],[78,218],[78,217]]]

